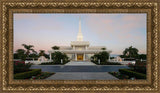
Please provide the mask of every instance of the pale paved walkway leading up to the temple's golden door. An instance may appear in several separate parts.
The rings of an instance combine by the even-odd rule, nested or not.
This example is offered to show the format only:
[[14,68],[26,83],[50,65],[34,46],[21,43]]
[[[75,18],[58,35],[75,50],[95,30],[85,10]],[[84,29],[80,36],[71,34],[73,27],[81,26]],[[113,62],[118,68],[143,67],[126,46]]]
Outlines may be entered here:
[[68,62],[67,64],[65,64],[67,66],[91,66],[91,65],[96,65],[93,62],[85,62],[85,61],[78,61],[78,62]]

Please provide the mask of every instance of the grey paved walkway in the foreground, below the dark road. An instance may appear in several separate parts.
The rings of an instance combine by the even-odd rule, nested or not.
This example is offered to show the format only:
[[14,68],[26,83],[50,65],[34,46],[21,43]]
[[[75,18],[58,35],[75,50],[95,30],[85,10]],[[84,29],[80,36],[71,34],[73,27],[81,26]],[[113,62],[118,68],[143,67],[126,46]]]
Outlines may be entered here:
[[58,72],[46,80],[118,80],[107,72]]

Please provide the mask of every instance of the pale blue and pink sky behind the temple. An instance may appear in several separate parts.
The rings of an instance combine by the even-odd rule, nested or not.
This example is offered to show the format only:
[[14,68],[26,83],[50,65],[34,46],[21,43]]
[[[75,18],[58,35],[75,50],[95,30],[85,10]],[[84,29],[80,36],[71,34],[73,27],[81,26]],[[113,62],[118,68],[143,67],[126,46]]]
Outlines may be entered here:
[[76,41],[81,17],[83,40],[90,46],[106,46],[111,54],[120,55],[129,46],[146,54],[146,14],[14,14],[14,51],[22,44],[39,50],[52,46],[70,46]]

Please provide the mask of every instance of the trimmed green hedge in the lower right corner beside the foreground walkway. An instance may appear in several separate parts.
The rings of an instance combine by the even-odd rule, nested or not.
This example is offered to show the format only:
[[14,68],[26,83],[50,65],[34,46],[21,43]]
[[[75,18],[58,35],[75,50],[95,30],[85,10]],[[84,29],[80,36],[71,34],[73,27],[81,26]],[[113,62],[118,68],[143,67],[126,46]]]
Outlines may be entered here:
[[130,78],[135,77],[136,79],[146,79],[146,75],[138,72],[131,71],[129,69],[119,69],[121,74],[128,75]]

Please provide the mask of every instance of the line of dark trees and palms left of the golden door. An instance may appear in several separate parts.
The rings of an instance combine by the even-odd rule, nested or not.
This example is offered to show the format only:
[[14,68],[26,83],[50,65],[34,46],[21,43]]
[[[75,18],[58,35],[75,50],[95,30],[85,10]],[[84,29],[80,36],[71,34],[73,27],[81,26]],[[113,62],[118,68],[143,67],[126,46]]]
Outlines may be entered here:
[[[26,44],[22,44],[22,46],[24,47],[24,49],[17,49],[16,53],[14,53],[14,59],[20,59],[22,61],[25,60],[33,60],[33,59],[38,59],[40,56],[45,56],[46,58],[49,59],[49,55],[45,53],[44,50],[39,50],[40,52],[37,53],[33,48],[33,45],[26,45]],[[51,47],[53,50],[59,50],[60,47],[58,46],[53,46]],[[54,61],[55,63],[59,63],[61,62],[61,60],[63,60],[63,62],[67,62],[69,61],[69,57],[65,54],[65,53],[61,53],[61,52],[54,52],[51,54],[52,56],[52,61]]]

